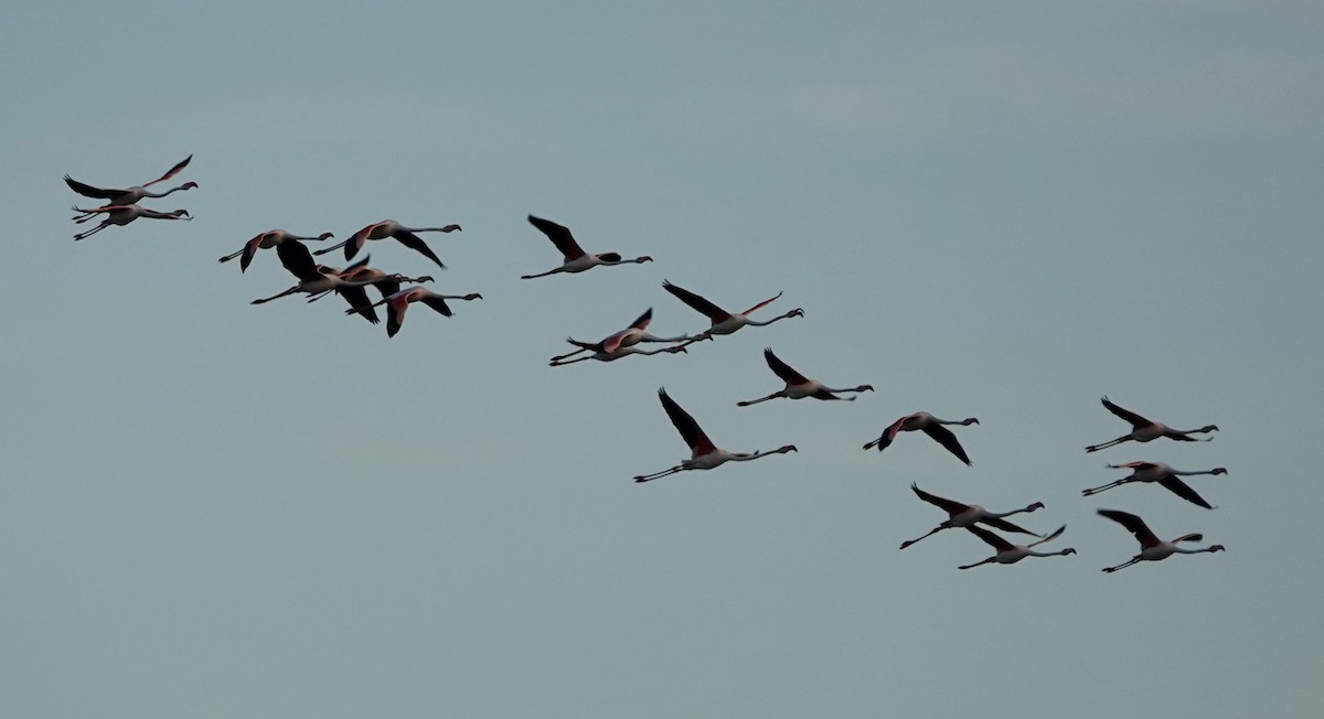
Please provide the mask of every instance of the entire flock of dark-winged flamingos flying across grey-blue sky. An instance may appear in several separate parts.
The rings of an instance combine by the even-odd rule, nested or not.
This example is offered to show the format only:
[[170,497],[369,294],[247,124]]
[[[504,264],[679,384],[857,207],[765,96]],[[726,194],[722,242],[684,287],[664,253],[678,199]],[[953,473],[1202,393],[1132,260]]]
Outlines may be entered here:
[[[148,183],[143,183],[142,185],[132,185],[124,189],[98,188],[81,183],[78,180],[74,180],[69,175],[65,175],[65,183],[74,192],[86,197],[106,201],[106,204],[102,207],[95,207],[89,209],[78,207],[73,208],[74,212],[77,213],[74,216],[74,222],[77,224],[83,224],[101,215],[105,215],[105,218],[101,221],[101,224],[98,224],[95,228],[90,230],[74,234],[74,240],[85,240],[111,225],[127,225],[128,222],[139,217],[147,217],[155,220],[192,220],[192,216],[188,213],[187,209],[176,209],[172,212],[158,212],[143,208],[138,204],[139,200],[143,199],[160,199],[175,192],[196,188],[197,183],[188,181],[159,193],[148,189],[155,184],[167,181],[179,175],[188,166],[189,160],[192,160],[192,155],[189,155],[183,162],[172,167],[168,172],[166,172],[160,177],[156,177],[155,180],[151,180]],[[561,256],[564,257],[564,261],[560,266],[553,267],[551,270],[520,275],[520,279],[534,279],[557,273],[581,273],[593,269],[596,266],[616,266],[616,265],[642,264],[653,261],[653,258],[647,256],[636,257],[633,260],[625,260],[620,253],[616,252],[604,252],[597,254],[589,253],[585,252],[579,245],[579,242],[575,240],[573,234],[571,234],[571,230],[568,228],[552,222],[549,220],[535,217],[532,215],[528,216],[528,221],[539,232],[545,234],[548,240],[551,240],[552,245],[555,245],[556,249],[560,250]],[[384,220],[381,222],[368,225],[355,232],[344,242],[324,249],[319,249],[316,252],[308,250],[305,242],[320,242],[331,240],[332,234],[330,232],[322,233],[316,237],[311,237],[311,236],[293,234],[283,229],[275,229],[254,236],[248,242],[245,242],[240,250],[221,257],[220,262],[229,262],[232,260],[238,260],[240,271],[246,271],[249,265],[257,256],[258,250],[274,248],[277,257],[281,261],[281,265],[283,265],[285,269],[289,270],[298,282],[294,286],[281,293],[277,293],[271,297],[254,299],[253,305],[262,305],[273,299],[279,299],[282,297],[289,297],[294,294],[306,294],[308,295],[307,302],[315,302],[318,299],[322,299],[323,297],[327,297],[328,294],[335,293],[343,297],[348,302],[350,307],[344,310],[347,315],[359,315],[373,324],[380,323],[376,307],[385,305],[387,336],[395,336],[400,331],[401,324],[404,323],[405,311],[409,309],[410,303],[421,302],[428,307],[433,309],[434,311],[440,312],[441,315],[451,316],[453,311],[450,306],[446,303],[448,299],[473,301],[473,299],[481,299],[482,295],[478,293],[470,293],[465,295],[445,295],[433,293],[432,290],[421,286],[424,282],[433,281],[430,275],[406,277],[400,273],[387,273],[376,267],[369,267],[368,266],[369,258],[367,254],[361,260],[352,262],[351,265],[343,269],[322,265],[316,260],[314,260],[314,257],[327,254],[330,252],[343,248],[346,261],[352,261],[356,254],[363,252],[368,241],[395,238],[404,246],[422,254],[424,257],[434,262],[438,267],[445,269],[446,266],[441,262],[441,260],[432,250],[432,248],[429,248],[428,244],[424,242],[421,237],[418,237],[418,233],[424,232],[440,232],[440,233],[459,232],[459,225],[449,224],[436,228],[409,228],[401,225],[395,220]],[[404,286],[405,283],[412,283],[412,286],[406,287]],[[372,302],[368,297],[367,287],[369,285],[377,293],[380,293],[381,298],[377,302]],[[745,326],[763,327],[782,319],[805,315],[804,310],[797,307],[785,314],[768,319],[767,322],[759,322],[751,319],[749,315],[752,312],[771,305],[773,301],[781,297],[781,293],[769,299],[759,302],[757,305],[749,307],[743,312],[730,312],[727,310],[723,310],[718,305],[712,303],[711,301],[703,298],[702,295],[698,295],[690,290],[673,285],[671,282],[665,281],[662,283],[662,287],[663,290],[670,293],[673,297],[675,297],[685,305],[706,315],[711,322],[711,326],[707,330],[703,330],[702,332],[694,335],[659,338],[647,332],[647,327],[653,319],[653,309],[650,307],[647,311],[639,315],[634,322],[632,322],[629,327],[613,332],[598,342],[591,343],[591,342],[576,340],[573,338],[567,338],[567,342],[571,343],[577,350],[552,358],[549,364],[552,367],[563,367],[587,360],[613,361],[630,355],[687,352],[686,348],[690,344],[694,344],[696,342],[712,340],[718,335],[730,335]],[[658,350],[642,350],[639,347],[641,344],[665,344],[666,347],[661,347]],[[768,368],[772,369],[772,372],[785,383],[785,387],[763,397],[737,401],[736,403],[737,407],[749,407],[782,397],[792,400],[813,397],[817,400],[850,401],[855,400],[857,395],[862,392],[874,391],[874,388],[869,384],[861,384],[851,388],[826,387],[818,380],[810,379],[800,373],[798,371],[793,369],[789,364],[786,364],[776,354],[773,354],[772,348],[764,350],[763,355],[764,360],[768,363]],[[850,395],[850,396],[843,396],[843,395]],[[688,412],[686,412],[674,399],[671,399],[671,396],[666,392],[665,388],[658,391],[658,399],[662,403],[662,409],[671,420],[671,424],[675,426],[677,432],[679,432],[685,442],[690,446],[690,457],[687,459],[682,459],[678,465],[674,465],[665,470],[655,471],[651,474],[637,475],[634,477],[636,482],[651,482],[654,479],[661,479],[663,477],[670,477],[673,474],[678,474],[682,471],[708,470],[722,466],[727,462],[748,462],[763,457],[771,457],[775,454],[786,454],[789,452],[797,452],[794,445],[784,445],[771,452],[730,452],[722,449],[716,444],[714,444],[712,440],[708,438],[708,436],[703,432],[703,429],[694,420],[694,417]],[[1200,429],[1190,429],[1190,430],[1172,429],[1161,422],[1151,421],[1135,412],[1124,409],[1110,401],[1108,397],[1103,397],[1102,401],[1103,407],[1108,409],[1108,412],[1112,412],[1121,420],[1125,420],[1127,422],[1131,424],[1131,432],[1108,442],[1087,446],[1086,448],[1087,453],[1112,448],[1128,441],[1149,442],[1162,437],[1181,442],[1196,442],[1196,441],[1207,442],[1209,440],[1211,440],[1211,437],[1197,438],[1193,437],[1193,434],[1207,434],[1210,432],[1218,430],[1215,425],[1206,425]],[[928,412],[916,412],[914,414],[907,414],[894,421],[891,425],[887,426],[887,429],[883,430],[880,437],[867,442],[865,445],[865,450],[878,449],[879,452],[882,452],[888,446],[891,446],[891,444],[896,440],[896,436],[902,432],[923,432],[933,441],[940,444],[943,448],[945,448],[963,463],[970,466],[972,462],[969,455],[965,453],[965,449],[961,448],[961,444],[956,438],[956,434],[947,426],[972,425],[972,424],[978,424],[978,420],[974,417],[967,417],[964,420],[940,420],[933,414],[929,414]],[[1189,485],[1186,485],[1181,479],[1181,477],[1201,475],[1201,474],[1217,475],[1227,473],[1227,470],[1223,467],[1215,467],[1204,471],[1180,471],[1162,462],[1127,462],[1121,465],[1108,465],[1108,467],[1128,469],[1131,470],[1131,474],[1115,482],[1099,487],[1087,489],[1082,493],[1084,497],[1099,494],[1102,491],[1115,489],[1132,482],[1156,482],[1160,486],[1176,494],[1177,497],[1185,499],[1186,502],[1190,502],[1206,510],[1211,510],[1214,507],[1209,504],[1209,502],[1206,502],[1198,493],[1196,493],[1196,490],[1193,490]],[[1059,550],[1057,552],[1041,552],[1034,550],[1034,547],[1038,547],[1041,544],[1045,544],[1047,542],[1051,542],[1062,536],[1062,534],[1066,531],[1066,524],[1058,527],[1049,535],[1041,535],[1038,532],[1033,532],[1030,530],[1026,530],[1006,520],[1008,516],[1016,514],[1033,512],[1035,510],[1043,508],[1042,502],[1034,502],[1022,508],[1006,512],[990,512],[978,504],[967,504],[963,502],[957,502],[955,499],[947,499],[944,497],[929,494],[919,489],[919,486],[914,483],[911,485],[911,490],[914,490],[916,497],[919,497],[922,501],[945,511],[948,518],[941,523],[939,523],[932,530],[929,530],[923,536],[903,542],[900,546],[902,550],[906,550],[907,547],[920,542],[922,539],[932,536],[943,530],[964,528],[968,530],[974,536],[984,540],[990,547],[993,547],[996,553],[988,559],[984,559],[982,561],[961,565],[959,567],[960,569],[969,569],[972,567],[978,567],[982,564],[992,564],[992,563],[1014,564],[1027,556],[1063,556],[1063,555],[1076,553],[1076,551],[1071,547]],[[1174,553],[1202,553],[1202,552],[1223,551],[1222,544],[1211,544],[1200,548],[1186,548],[1182,546],[1182,543],[1202,542],[1204,535],[1198,532],[1185,534],[1172,540],[1162,540],[1156,534],[1153,534],[1153,531],[1144,523],[1144,520],[1141,520],[1139,516],[1133,514],[1117,510],[1099,510],[1098,514],[1100,516],[1117,522],[1119,524],[1125,527],[1127,531],[1135,535],[1136,540],[1140,543],[1140,553],[1135,555],[1128,561],[1124,561],[1121,564],[1106,567],[1103,571],[1108,573],[1116,572],[1125,567],[1131,567],[1132,564],[1140,561],[1162,560]],[[1004,539],[1002,536],[998,536],[992,531],[981,527],[980,524],[1000,530],[1002,532],[1023,534],[1038,539],[1035,542],[1030,542],[1029,544],[1014,544]]]

